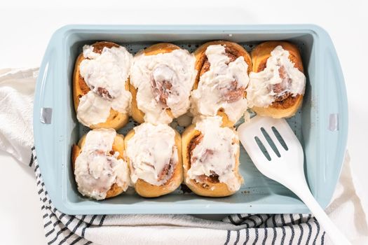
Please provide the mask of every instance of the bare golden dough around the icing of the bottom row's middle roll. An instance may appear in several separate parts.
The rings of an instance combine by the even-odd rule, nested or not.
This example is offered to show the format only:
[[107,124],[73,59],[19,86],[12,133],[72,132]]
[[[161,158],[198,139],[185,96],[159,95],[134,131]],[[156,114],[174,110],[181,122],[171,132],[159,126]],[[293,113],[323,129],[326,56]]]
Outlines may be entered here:
[[[128,141],[132,139],[135,135],[135,131],[130,130],[128,134],[125,136],[125,148],[128,146]],[[180,184],[183,182],[183,162],[182,162],[182,137],[180,137],[179,132],[175,130],[175,145],[177,146],[177,156],[178,162],[175,165],[175,169],[172,172],[172,176],[166,183],[161,186],[154,186],[151,183],[147,183],[142,179],[138,179],[137,183],[135,183],[135,191],[142,197],[160,197],[162,195],[166,195],[168,193],[172,193],[176,190]],[[130,167],[130,172],[132,172],[130,159],[127,159],[128,165]]]

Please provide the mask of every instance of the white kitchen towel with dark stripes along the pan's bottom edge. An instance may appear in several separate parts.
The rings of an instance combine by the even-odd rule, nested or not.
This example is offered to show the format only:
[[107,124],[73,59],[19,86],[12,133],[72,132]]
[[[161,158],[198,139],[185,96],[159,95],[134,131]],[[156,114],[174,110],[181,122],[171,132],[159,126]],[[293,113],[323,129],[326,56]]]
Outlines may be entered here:
[[324,244],[311,214],[234,214],[222,221],[191,215],[62,214],[48,196],[32,148],[48,244]]

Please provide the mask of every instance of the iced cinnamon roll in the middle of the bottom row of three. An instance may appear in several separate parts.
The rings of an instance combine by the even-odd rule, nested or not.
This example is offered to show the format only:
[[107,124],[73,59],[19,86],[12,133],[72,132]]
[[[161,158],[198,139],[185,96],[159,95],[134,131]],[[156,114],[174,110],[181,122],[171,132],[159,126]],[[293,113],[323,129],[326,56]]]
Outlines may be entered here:
[[130,179],[142,197],[172,193],[183,181],[182,139],[170,126],[142,123],[125,137]]

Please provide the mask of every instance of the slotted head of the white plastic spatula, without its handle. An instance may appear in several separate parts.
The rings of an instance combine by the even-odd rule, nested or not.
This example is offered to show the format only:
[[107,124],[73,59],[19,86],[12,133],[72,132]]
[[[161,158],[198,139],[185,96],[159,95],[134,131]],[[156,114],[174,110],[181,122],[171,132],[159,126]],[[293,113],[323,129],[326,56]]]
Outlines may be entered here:
[[306,181],[303,148],[285,119],[254,116],[238,127],[238,134],[262,174],[291,190]]

